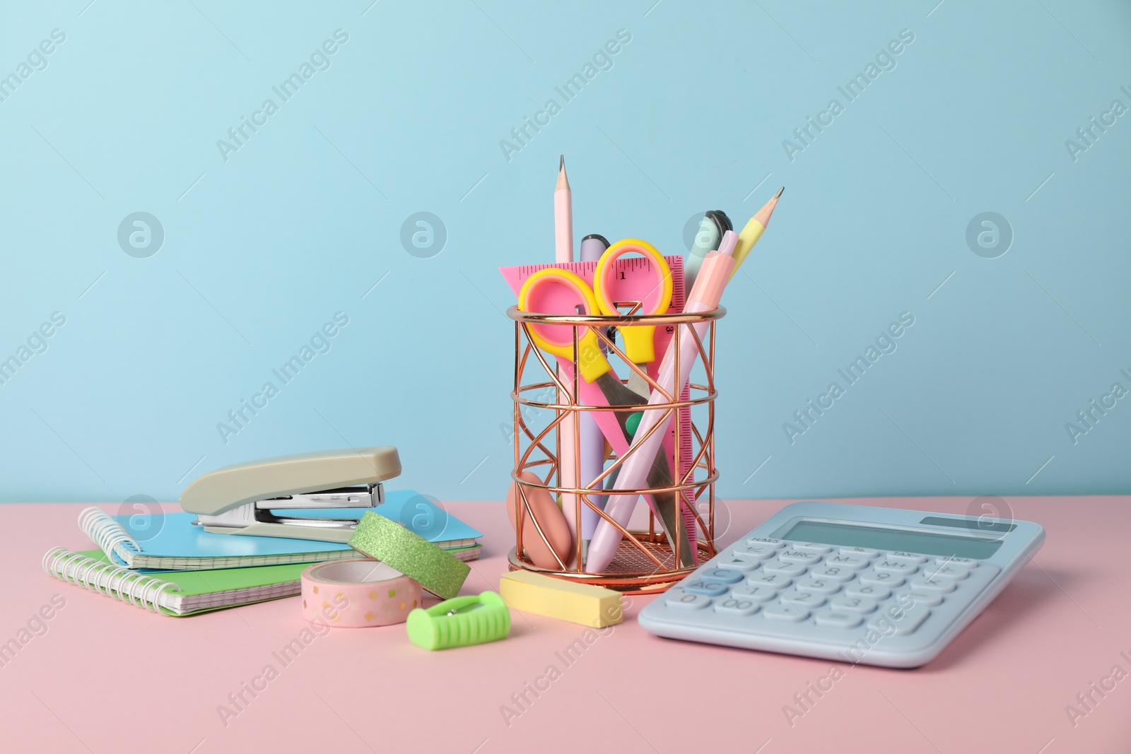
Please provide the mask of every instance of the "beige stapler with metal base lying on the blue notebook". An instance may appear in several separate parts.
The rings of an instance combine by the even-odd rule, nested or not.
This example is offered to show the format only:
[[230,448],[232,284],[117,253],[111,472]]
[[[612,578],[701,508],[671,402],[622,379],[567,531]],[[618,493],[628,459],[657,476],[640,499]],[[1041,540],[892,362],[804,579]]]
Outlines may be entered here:
[[381,483],[400,474],[391,447],[327,450],[236,463],[193,479],[181,508],[213,534],[349,541],[356,519],[291,518],[275,510],[375,508]]

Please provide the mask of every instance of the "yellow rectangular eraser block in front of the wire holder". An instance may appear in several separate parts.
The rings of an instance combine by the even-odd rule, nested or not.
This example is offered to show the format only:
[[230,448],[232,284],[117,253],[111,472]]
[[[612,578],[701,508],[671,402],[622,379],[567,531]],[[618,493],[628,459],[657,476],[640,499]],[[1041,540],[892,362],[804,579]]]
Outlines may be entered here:
[[530,571],[504,573],[499,579],[499,593],[515,609],[590,629],[604,629],[624,619],[620,592]]

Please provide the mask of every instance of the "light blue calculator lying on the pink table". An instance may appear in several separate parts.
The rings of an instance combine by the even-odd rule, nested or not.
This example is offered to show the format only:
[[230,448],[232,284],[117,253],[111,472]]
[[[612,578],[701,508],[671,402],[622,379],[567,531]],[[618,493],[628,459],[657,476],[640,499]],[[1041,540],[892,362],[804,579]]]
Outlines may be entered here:
[[659,636],[914,668],[1045,540],[1029,521],[794,503],[640,612]]

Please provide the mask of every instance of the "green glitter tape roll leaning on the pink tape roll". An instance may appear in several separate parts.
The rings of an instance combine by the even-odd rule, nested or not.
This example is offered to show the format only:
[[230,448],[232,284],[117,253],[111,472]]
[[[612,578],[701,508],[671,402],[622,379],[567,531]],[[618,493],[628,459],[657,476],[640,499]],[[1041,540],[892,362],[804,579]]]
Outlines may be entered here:
[[368,511],[357,522],[349,546],[388,563],[443,599],[459,593],[472,567],[396,521]]

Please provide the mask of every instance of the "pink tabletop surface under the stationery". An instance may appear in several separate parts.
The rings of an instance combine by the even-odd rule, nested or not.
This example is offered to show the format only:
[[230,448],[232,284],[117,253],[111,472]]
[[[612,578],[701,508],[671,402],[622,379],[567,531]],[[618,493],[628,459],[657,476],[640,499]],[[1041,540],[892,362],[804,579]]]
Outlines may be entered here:
[[[788,502],[723,504],[719,519],[729,525],[720,544]],[[843,502],[949,513],[970,504]],[[651,597],[632,597],[624,623],[592,634],[589,644],[581,626],[512,610],[510,638],[492,644],[426,652],[408,643],[402,625],[335,629],[308,634],[309,644],[283,665],[273,652],[309,629],[297,598],[155,615],[41,570],[52,546],[89,547],[76,526],[83,505],[0,505],[0,643],[53,596],[66,599],[46,632],[0,667],[2,749],[1131,752],[1131,681],[1123,679],[1131,673],[1131,499],[1005,502],[1015,518],[1045,527],[1044,548],[938,659],[915,670],[658,639],[636,622]],[[485,535],[464,593],[498,589],[512,536],[502,504],[447,508]],[[586,649],[567,664],[563,650],[578,639]],[[276,677],[254,697],[244,692],[242,711],[223,719],[228,695],[266,666]],[[550,666],[554,679],[535,696],[528,684],[545,688],[539,678]],[[828,691],[810,692],[815,702],[801,708],[794,695],[810,684]],[[1100,696],[1095,688],[1105,686]],[[524,693],[529,703],[519,708],[512,695]],[[1083,707],[1077,694],[1095,702]],[[1070,705],[1079,713],[1070,716]]]

